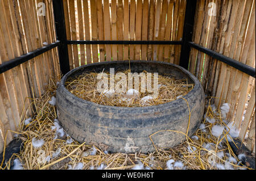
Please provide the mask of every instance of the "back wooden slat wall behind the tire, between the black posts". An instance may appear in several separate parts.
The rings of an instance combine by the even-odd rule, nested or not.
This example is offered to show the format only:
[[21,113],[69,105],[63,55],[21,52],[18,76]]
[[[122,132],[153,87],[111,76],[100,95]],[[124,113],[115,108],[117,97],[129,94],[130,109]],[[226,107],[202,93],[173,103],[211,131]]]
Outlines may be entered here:
[[[181,40],[186,1],[63,0],[68,40]],[[81,7],[82,5],[82,7]],[[81,14],[84,18],[80,18]],[[76,18],[78,17],[78,18]],[[180,45],[68,45],[70,67],[113,60],[179,64]],[[176,47],[176,48],[175,48]],[[79,56],[81,54],[81,57]],[[79,64],[80,59],[82,61]]]

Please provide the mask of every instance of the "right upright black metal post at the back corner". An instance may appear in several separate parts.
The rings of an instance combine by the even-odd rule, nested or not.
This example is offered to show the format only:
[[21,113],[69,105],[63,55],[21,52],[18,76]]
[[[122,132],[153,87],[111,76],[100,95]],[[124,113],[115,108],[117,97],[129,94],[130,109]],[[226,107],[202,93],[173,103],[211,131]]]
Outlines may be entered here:
[[183,37],[180,52],[180,66],[184,69],[188,69],[190,47],[187,42],[192,41],[192,33],[194,27],[194,20],[196,14],[196,3],[197,0],[187,0],[185,19],[183,27]]

